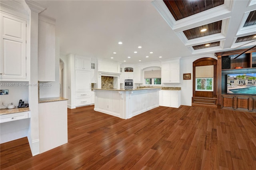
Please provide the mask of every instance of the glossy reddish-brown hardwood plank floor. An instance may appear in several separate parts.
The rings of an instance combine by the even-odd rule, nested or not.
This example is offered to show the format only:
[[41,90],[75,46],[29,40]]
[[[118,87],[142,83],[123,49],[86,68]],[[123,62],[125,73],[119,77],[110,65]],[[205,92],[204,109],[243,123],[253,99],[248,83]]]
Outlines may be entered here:
[[68,109],[68,143],[48,152],[1,144],[1,169],[256,169],[255,113],[158,107],[124,120],[93,108]]

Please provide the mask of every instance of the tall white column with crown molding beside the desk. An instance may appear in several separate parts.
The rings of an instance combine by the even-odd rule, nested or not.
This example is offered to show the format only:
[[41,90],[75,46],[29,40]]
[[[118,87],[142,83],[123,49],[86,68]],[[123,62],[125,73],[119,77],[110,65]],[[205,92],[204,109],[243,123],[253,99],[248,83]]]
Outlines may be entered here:
[[[30,38],[27,40],[27,45],[30,46],[30,84],[38,83],[38,13],[42,12],[46,8],[34,1],[26,1],[30,9],[30,23],[29,32]],[[29,108],[31,111],[30,129],[28,132],[28,141],[32,155],[39,154],[39,115],[38,115],[38,87],[29,87]]]

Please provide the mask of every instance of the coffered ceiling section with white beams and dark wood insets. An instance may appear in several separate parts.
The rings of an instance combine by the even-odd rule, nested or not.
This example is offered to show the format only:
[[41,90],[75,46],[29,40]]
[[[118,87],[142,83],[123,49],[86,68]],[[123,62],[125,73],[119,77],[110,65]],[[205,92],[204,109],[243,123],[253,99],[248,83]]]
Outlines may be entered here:
[[163,0],[153,4],[191,53],[256,44],[255,0]]

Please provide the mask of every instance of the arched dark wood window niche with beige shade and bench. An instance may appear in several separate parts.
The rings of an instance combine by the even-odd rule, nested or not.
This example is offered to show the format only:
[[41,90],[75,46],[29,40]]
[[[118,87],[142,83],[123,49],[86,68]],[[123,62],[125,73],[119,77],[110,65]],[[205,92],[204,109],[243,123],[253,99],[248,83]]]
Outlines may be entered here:
[[193,62],[193,105],[217,107],[217,59],[204,57]]

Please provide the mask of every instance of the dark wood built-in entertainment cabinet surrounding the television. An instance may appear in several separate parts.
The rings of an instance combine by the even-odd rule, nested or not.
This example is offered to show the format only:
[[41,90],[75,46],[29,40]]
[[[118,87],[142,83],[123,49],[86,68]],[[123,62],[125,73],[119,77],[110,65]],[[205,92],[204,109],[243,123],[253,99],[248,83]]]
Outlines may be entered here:
[[256,112],[256,96],[227,94],[228,74],[256,73],[256,49],[246,50],[215,53],[218,57],[218,108]]

